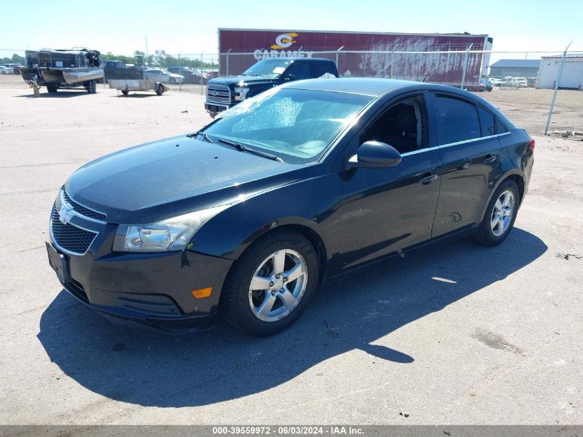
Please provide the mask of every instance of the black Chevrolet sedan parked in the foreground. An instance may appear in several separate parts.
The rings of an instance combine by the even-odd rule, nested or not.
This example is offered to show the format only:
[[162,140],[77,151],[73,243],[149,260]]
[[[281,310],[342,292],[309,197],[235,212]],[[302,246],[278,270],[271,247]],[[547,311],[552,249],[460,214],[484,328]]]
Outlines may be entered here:
[[112,320],[172,330],[221,314],[266,336],[326,278],[459,233],[500,244],[533,150],[464,90],[297,81],[79,168],[52,209],[49,260]]

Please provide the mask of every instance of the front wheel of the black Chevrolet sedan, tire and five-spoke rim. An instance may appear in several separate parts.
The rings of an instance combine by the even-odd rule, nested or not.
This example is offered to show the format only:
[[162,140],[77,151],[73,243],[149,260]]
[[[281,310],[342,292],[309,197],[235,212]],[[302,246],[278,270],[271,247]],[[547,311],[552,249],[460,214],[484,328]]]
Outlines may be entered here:
[[[295,279],[287,280],[288,274]],[[241,331],[271,336],[297,320],[318,281],[318,258],[310,241],[295,231],[273,231],[235,262],[225,280],[219,311]]]

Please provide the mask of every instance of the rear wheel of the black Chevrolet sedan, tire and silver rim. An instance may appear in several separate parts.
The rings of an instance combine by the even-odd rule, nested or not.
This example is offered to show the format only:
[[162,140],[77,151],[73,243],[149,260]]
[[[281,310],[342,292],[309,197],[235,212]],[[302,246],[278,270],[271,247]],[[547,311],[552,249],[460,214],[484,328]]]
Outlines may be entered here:
[[520,193],[515,182],[502,182],[488,203],[484,220],[473,235],[474,240],[484,246],[497,246],[506,240],[514,226],[519,205]]

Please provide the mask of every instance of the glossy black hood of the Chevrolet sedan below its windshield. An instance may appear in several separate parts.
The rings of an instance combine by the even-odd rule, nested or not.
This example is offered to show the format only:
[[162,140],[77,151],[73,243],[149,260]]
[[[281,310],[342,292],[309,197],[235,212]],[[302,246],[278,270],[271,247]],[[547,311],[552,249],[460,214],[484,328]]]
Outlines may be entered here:
[[152,223],[240,202],[299,180],[305,169],[180,136],[96,159],[75,171],[65,189],[110,223]]

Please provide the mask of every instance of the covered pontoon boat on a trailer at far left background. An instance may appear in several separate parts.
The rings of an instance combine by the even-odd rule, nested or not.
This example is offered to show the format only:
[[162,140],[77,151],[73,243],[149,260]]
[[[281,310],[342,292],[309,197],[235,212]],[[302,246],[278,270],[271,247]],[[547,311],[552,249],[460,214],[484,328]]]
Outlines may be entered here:
[[35,88],[46,86],[49,93],[59,88],[85,88],[95,94],[97,80],[103,79],[97,50],[26,50],[26,66],[21,75]]

